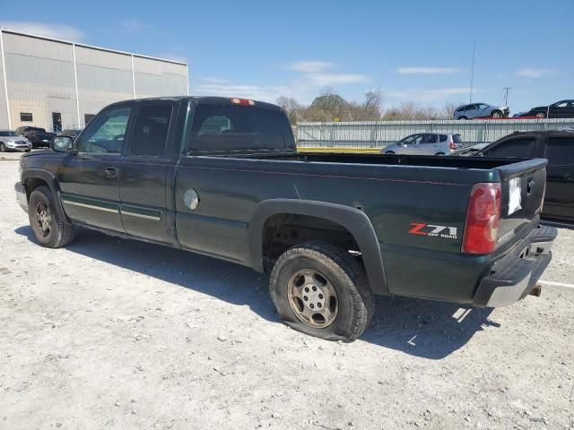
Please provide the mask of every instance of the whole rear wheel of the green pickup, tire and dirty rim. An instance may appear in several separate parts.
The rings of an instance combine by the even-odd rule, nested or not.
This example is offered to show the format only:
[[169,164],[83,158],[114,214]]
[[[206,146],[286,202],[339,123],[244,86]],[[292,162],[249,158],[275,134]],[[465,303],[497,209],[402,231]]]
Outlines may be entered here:
[[269,292],[292,329],[350,342],[367,329],[374,299],[361,262],[324,242],[295,245],[275,262]]

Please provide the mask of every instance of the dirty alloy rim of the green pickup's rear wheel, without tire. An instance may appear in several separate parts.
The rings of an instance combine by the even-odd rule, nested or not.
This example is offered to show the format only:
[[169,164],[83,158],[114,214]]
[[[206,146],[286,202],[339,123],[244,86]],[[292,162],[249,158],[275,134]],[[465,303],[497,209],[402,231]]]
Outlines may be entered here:
[[320,271],[296,271],[287,284],[287,296],[301,323],[323,329],[335,322],[339,298],[331,281]]

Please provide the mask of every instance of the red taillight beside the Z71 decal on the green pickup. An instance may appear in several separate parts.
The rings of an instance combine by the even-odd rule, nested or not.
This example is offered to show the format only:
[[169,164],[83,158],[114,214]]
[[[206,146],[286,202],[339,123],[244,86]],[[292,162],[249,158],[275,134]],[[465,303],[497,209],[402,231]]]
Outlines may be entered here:
[[490,254],[496,247],[500,225],[500,184],[475,184],[466,211],[461,252]]

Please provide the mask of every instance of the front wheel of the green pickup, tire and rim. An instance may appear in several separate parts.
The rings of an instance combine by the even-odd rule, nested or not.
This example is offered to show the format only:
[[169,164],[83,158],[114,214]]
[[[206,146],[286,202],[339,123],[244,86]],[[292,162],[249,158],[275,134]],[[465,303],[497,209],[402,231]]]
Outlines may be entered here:
[[74,226],[58,214],[47,186],[39,186],[30,194],[28,207],[30,227],[39,245],[59,248],[74,239]]

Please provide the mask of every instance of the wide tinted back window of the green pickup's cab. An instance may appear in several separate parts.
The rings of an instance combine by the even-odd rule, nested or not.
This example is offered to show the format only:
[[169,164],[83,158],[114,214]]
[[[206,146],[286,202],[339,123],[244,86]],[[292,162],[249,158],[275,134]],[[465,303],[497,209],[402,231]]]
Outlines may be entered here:
[[188,132],[189,155],[285,150],[294,146],[281,110],[199,104]]

